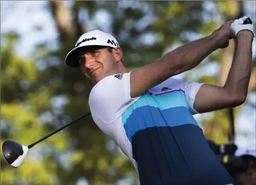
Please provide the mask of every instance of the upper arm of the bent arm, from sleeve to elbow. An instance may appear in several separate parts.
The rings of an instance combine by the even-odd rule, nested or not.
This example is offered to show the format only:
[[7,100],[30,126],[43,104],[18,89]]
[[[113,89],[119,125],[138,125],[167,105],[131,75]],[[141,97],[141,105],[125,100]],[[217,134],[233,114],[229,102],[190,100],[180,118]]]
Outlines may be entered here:
[[198,90],[193,108],[200,113],[235,107],[242,104],[239,97],[231,96],[227,89],[210,84],[204,84]]

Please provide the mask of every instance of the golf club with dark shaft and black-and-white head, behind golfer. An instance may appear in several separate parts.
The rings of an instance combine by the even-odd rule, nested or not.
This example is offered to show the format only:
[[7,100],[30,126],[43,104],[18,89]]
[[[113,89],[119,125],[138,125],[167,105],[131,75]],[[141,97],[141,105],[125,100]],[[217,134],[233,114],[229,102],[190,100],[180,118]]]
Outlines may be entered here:
[[43,138],[37,140],[36,142],[34,142],[32,144],[30,144],[29,146],[25,146],[20,143],[14,142],[13,140],[6,140],[5,142],[3,142],[3,145],[2,145],[3,155],[5,156],[5,159],[12,167],[14,167],[14,168],[19,167],[20,164],[26,158],[26,155],[28,155],[28,151],[30,148],[32,148],[36,144],[49,138],[49,136],[56,134],[57,132],[63,130],[65,127],[70,126],[71,124],[77,122],[77,120],[80,120],[89,114],[91,114],[91,112],[87,112],[86,114],[80,116],[79,118],[73,120],[72,122],[65,124],[64,126],[58,128],[57,130],[51,132],[50,134],[44,136]]

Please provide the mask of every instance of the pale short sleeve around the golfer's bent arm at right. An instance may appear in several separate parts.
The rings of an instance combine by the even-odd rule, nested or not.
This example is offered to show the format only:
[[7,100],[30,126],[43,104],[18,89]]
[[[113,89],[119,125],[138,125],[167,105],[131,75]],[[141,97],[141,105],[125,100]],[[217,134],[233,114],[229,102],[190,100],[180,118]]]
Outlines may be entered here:
[[185,95],[188,101],[188,107],[192,114],[198,114],[198,112],[193,107],[196,99],[196,94],[200,87],[203,85],[203,83],[197,83],[197,82],[185,82],[183,81],[183,87],[185,91]]

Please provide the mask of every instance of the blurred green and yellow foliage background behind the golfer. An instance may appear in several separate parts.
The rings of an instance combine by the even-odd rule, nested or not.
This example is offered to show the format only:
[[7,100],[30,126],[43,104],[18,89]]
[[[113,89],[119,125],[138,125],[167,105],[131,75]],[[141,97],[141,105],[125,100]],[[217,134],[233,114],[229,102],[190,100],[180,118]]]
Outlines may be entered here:
[[[92,84],[64,63],[84,32],[114,34],[133,70],[243,15],[256,22],[255,1],[1,1],[1,143],[28,145],[89,111]],[[231,41],[176,78],[223,85],[233,51]],[[249,96],[234,109],[242,147],[255,147],[255,65],[254,51]],[[195,118],[207,138],[229,142],[230,110]],[[1,148],[1,183],[138,184],[138,176],[88,116],[35,146],[19,168],[6,163]]]

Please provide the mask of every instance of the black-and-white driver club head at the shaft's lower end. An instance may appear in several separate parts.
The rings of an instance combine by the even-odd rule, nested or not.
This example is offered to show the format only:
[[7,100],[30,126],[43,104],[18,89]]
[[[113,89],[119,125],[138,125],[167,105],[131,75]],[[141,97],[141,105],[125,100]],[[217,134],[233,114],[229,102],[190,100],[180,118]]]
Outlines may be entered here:
[[17,168],[26,158],[29,148],[13,140],[6,140],[3,142],[2,150],[7,162],[12,167]]

